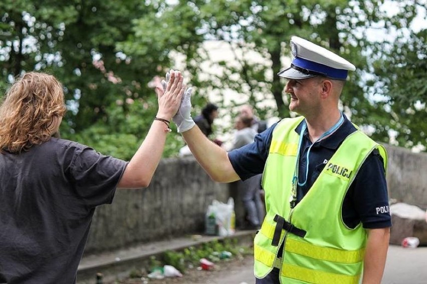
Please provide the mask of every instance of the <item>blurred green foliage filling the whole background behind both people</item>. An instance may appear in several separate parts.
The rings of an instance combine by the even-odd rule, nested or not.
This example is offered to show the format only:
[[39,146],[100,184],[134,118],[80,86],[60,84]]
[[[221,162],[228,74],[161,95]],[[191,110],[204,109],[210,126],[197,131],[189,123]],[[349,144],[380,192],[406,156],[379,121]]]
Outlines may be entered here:
[[[425,1],[392,1],[394,14],[380,0],[171,3],[1,1],[0,90],[24,71],[55,74],[69,106],[62,136],[129,159],[157,110],[150,82],[169,68],[185,70],[193,115],[217,94],[229,117],[242,103],[254,105],[263,119],[289,116],[285,81],[276,74],[288,65],[290,37],[299,35],[356,65],[341,97],[352,121],[373,127],[379,141],[390,142],[395,133],[401,146],[427,144],[425,24],[416,32],[408,28],[425,15]],[[373,29],[381,31],[380,40],[369,38]],[[395,38],[383,36],[392,31]],[[230,56],[212,53],[212,42]],[[183,144],[173,131],[165,156]]]

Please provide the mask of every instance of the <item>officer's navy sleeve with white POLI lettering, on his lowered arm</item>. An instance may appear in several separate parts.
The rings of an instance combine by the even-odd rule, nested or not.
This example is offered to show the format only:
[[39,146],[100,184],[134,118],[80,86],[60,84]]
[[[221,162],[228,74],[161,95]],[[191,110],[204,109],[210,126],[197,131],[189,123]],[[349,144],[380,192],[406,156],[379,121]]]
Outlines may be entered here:
[[391,226],[384,164],[378,150],[366,158],[354,182],[353,202],[363,227]]

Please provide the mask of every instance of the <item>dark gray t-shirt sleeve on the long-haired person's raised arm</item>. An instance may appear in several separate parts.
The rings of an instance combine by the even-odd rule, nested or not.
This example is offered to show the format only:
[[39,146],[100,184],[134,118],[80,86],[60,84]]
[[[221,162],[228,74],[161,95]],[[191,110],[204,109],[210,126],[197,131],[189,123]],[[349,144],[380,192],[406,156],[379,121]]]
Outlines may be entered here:
[[69,147],[65,155],[72,155],[67,175],[76,194],[91,207],[111,203],[127,162],[80,144]]

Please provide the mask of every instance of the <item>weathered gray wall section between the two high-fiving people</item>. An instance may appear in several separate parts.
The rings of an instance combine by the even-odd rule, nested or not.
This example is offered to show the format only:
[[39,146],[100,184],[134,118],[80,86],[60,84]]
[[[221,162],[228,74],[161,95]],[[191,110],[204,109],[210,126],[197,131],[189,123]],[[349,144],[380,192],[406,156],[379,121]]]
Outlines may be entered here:
[[228,197],[229,184],[212,181],[194,158],[162,159],[147,188],[118,189],[95,210],[85,253],[203,232],[207,206]]

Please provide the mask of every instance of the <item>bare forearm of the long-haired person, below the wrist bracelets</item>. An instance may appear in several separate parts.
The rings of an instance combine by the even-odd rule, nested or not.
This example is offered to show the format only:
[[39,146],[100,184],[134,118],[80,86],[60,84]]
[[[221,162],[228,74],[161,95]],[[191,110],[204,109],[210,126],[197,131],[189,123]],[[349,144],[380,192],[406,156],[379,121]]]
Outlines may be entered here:
[[167,131],[166,124],[154,120],[142,144],[127,165],[117,185],[119,188],[147,187],[162,157]]

